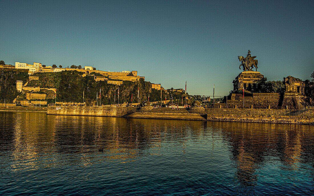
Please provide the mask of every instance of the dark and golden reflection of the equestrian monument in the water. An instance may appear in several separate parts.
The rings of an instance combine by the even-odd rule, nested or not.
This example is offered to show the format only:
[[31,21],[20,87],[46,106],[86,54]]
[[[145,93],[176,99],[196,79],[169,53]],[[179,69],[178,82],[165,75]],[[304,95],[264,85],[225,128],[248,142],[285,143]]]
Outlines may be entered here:
[[313,134],[309,126],[224,123],[224,127],[223,135],[230,142],[231,159],[236,161],[236,177],[246,186],[254,185],[258,178],[256,170],[269,160],[276,162],[276,157],[285,169],[300,169],[301,160],[308,160],[314,167],[314,145],[309,145]]

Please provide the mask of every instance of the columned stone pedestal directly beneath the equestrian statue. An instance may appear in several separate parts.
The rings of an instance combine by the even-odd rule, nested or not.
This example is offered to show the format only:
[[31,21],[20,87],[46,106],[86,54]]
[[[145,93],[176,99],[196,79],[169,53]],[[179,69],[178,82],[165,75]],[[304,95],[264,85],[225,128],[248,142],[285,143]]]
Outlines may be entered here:
[[267,81],[267,78],[261,72],[243,71],[233,80],[233,90],[242,91],[244,88],[246,92],[252,92],[265,81]]

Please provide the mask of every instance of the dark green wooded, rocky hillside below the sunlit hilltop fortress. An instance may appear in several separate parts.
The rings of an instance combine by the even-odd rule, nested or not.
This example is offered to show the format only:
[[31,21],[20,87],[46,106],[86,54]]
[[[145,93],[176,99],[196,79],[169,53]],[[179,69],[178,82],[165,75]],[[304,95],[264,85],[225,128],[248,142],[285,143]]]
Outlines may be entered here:
[[[20,70],[19,70],[20,71]],[[8,74],[7,74],[8,75]],[[10,99],[12,102],[14,98],[19,95],[16,91],[16,80],[22,80],[23,83],[28,81],[27,72],[14,72],[15,78],[6,84],[6,88],[10,89]],[[19,77],[18,77],[19,76]],[[23,76],[23,77],[22,77]],[[82,77],[82,72],[78,71],[62,71],[62,72],[44,72],[35,73],[32,76],[38,76],[39,80],[31,80],[28,87],[42,87],[42,88],[56,88],[57,89],[57,102],[83,102],[87,104],[96,103],[96,95],[98,94],[98,103],[100,98],[101,89],[101,104],[108,105],[114,103],[116,93],[116,103],[118,103],[118,88],[119,88],[119,103],[131,103],[131,96],[133,93],[133,103],[138,102],[138,88],[139,88],[139,101],[160,101],[160,90],[152,89],[150,82],[145,82],[140,79],[137,82],[123,81],[120,86],[114,84],[107,84],[106,81],[96,82],[93,76]],[[8,80],[8,79],[7,79]],[[0,81],[1,82],[1,81]],[[1,83],[2,85],[2,83]],[[8,87],[10,86],[10,87]],[[1,86],[2,87],[2,86]],[[3,88],[3,87],[2,87]],[[85,90],[84,90],[85,89]],[[89,89],[89,91],[87,91]],[[1,91],[1,96],[4,96]],[[165,91],[162,92],[162,100],[165,96],[169,100],[169,94],[173,94],[174,99],[180,99],[184,93],[174,93]],[[48,103],[54,103],[54,99],[48,100]]]

